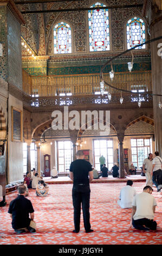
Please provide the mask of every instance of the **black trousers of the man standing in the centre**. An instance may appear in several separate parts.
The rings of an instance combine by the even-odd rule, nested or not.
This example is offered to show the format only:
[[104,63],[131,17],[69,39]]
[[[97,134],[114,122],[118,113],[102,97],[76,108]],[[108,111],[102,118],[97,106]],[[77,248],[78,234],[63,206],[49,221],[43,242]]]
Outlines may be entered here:
[[80,215],[81,205],[83,211],[83,221],[85,230],[90,229],[90,214],[89,214],[89,200],[90,188],[89,185],[75,185],[72,190],[73,206],[74,206],[74,227],[76,231],[80,230]]

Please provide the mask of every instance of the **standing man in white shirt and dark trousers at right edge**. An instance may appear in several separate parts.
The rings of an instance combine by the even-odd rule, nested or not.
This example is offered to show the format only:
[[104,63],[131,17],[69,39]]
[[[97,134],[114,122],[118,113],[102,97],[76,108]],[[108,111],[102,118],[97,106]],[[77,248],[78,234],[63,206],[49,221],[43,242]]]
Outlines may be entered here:
[[152,161],[152,181],[154,185],[157,187],[157,192],[161,190],[162,184],[162,159],[159,156],[159,152],[155,151],[155,158]]

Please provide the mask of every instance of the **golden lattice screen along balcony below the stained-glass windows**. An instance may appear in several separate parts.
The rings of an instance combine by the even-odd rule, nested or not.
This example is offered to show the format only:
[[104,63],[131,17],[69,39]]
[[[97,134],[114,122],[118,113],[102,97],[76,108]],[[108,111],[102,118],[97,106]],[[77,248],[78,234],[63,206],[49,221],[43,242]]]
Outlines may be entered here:
[[[115,88],[132,90],[132,88],[152,91],[151,71],[134,71],[115,73],[111,82],[109,74],[104,74],[104,80]],[[117,89],[105,86],[105,91],[119,93]],[[23,70],[23,92],[28,95],[57,96],[60,94],[94,95],[100,93],[100,75],[64,75],[64,76],[30,76]]]

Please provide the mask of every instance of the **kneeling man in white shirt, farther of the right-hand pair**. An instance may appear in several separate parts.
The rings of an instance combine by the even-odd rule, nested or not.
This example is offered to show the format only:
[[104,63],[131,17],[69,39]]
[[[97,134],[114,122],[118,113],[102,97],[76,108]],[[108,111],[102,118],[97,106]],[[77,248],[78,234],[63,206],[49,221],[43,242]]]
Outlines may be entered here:
[[120,197],[119,197],[120,200],[118,200],[118,204],[123,209],[132,208],[133,198],[136,194],[135,188],[132,187],[132,185],[133,185],[133,181],[128,180],[127,186],[121,188]]

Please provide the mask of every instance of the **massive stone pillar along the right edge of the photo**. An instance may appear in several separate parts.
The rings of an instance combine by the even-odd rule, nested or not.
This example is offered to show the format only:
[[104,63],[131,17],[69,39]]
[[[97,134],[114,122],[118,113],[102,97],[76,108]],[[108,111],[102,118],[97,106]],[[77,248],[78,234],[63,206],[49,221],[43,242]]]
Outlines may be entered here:
[[[152,1],[150,9],[145,12],[148,16],[148,24],[151,33],[151,39],[161,36],[162,28],[162,4],[160,1]],[[151,46],[151,67],[152,67],[152,91],[153,94],[162,95],[162,39],[154,41]],[[162,108],[159,108],[159,100],[162,103],[162,96],[153,96],[153,118],[155,133],[155,150],[162,156]]]

